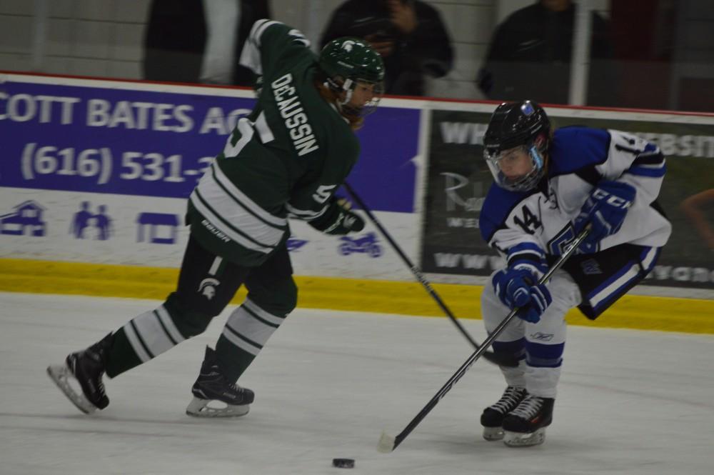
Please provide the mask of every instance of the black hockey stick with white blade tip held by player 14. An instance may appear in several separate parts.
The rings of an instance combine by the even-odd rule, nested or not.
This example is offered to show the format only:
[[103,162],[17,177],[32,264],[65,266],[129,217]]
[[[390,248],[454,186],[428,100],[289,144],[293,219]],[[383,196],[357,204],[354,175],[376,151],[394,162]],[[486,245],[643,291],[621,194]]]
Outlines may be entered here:
[[[563,264],[565,264],[565,261],[567,261],[570,256],[573,255],[575,252],[575,249],[578,249],[578,246],[583,243],[585,240],[585,237],[588,236],[588,233],[590,233],[590,226],[588,225],[583,229],[583,231],[580,232],[578,237],[573,241],[573,244],[568,247],[568,249],[563,253],[562,256],[560,256],[560,259],[553,264],[553,267],[550,268],[550,270],[540,278],[538,281],[538,284],[545,284],[550,280],[550,277],[553,276],[553,273],[560,269]],[[448,391],[451,391],[451,388],[453,387],[454,384],[458,382],[459,379],[461,379],[461,376],[466,374],[466,371],[468,371],[469,368],[471,368],[471,365],[483,354],[486,349],[493,344],[493,341],[498,338],[498,335],[501,334],[503,329],[506,329],[506,326],[511,323],[511,320],[516,316],[516,313],[518,312],[518,308],[511,310],[511,313],[506,316],[503,321],[501,321],[500,324],[496,327],[496,329],[491,333],[491,335],[488,336],[486,341],[483,341],[483,344],[481,344],[481,348],[477,349],[476,351],[473,352],[471,356],[468,357],[466,362],[461,365],[461,368],[456,370],[456,373],[449,378],[448,381],[446,381],[446,384],[444,384],[441,389],[439,389],[438,393],[436,393],[433,398],[431,398],[431,401],[429,401],[426,406],[419,411],[419,414],[416,415],[414,419],[411,420],[409,424],[407,424],[406,428],[404,428],[403,431],[401,431],[397,436],[391,436],[387,434],[386,431],[382,432],[381,437],[379,438],[379,443],[377,444],[377,450],[381,451],[385,454],[388,454],[389,452],[393,451],[396,449],[399,444],[402,443],[404,439],[406,439],[406,436],[408,436],[411,431],[414,430],[418,424],[423,421],[423,419],[426,417],[429,412],[431,412],[431,409],[434,409],[436,404],[443,398],[443,396],[446,396],[446,393]]]

